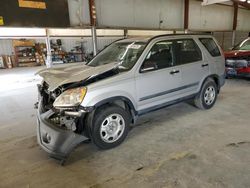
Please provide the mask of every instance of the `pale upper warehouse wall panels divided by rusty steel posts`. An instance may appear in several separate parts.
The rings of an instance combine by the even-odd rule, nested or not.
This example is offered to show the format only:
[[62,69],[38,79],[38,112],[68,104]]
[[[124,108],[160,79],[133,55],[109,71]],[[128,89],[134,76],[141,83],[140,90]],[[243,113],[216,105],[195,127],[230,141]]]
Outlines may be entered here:
[[[89,24],[88,0],[68,0],[72,26]],[[152,29],[183,29],[184,0],[95,0],[99,26]],[[232,30],[233,7],[201,6],[190,0],[189,28],[191,30]],[[239,9],[239,31],[250,30],[250,11]]]

